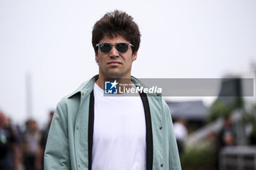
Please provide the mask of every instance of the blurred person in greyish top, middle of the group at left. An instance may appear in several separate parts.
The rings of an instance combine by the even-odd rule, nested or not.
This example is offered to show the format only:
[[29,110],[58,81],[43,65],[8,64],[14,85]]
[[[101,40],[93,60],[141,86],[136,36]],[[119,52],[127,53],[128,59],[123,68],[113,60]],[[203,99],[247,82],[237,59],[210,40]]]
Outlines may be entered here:
[[23,147],[23,163],[25,170],[35,169],[35,158],[39,147],[39,140],[41,134],[37,128],[35,120],[26,121],[26,131],[23,134],[22,147]]

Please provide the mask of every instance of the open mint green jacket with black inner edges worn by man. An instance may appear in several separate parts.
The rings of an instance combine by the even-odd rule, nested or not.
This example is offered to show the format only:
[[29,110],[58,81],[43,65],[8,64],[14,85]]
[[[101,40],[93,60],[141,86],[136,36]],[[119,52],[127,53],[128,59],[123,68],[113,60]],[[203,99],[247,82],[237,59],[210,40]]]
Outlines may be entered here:
[[[45,170],[91,170],[93,118],[90,112],[94,104],[90,101],[94,101],[91,92],[97,78],[92,77],[59,101],[45,148]],[[132,82],[142,85],[135,77]],[[169,107],[159,93],[141,98],[148,122],[146,169],[181,170]]]

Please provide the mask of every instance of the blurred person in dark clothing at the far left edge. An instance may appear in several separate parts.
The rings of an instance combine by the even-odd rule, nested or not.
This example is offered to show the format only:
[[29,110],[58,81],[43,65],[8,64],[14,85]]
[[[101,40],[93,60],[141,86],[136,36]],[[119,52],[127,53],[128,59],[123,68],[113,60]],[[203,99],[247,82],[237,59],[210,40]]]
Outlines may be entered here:
[[15,134],[12,127],[7,125],[7,119],[3,112],[0,111],[0,169],[15,170],[17,163],[17,147]]

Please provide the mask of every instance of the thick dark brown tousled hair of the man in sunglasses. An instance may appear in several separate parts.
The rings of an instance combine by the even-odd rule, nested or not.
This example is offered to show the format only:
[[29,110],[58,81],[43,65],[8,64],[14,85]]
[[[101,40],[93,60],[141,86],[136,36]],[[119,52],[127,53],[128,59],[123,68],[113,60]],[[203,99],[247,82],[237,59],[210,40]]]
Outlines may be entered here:
[[118,35],[123,36],[124,39],[134,45],[132,54],[139,50],[140,31],[138,25],[133,21],[132,16],[127,15],[126,12],[115,10],[106,13],[94,24],[91,42],[95,53],[98,53],[96,45],[104,36],[113,38]]

